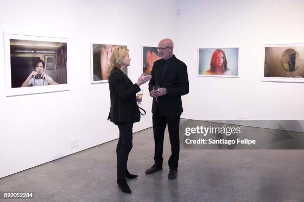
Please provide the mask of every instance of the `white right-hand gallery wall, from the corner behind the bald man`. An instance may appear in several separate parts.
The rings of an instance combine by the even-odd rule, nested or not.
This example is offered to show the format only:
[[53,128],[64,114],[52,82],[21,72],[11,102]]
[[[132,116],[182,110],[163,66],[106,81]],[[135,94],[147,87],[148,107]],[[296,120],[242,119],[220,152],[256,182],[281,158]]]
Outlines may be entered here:
[[[263,44],[304,43],[303,0],[177,2],[175,53],[190,78],[183,118],[304,119],[304,83],[261,81]],[[198,48],[227,46],[240,48],[239,78],[196,76]]]

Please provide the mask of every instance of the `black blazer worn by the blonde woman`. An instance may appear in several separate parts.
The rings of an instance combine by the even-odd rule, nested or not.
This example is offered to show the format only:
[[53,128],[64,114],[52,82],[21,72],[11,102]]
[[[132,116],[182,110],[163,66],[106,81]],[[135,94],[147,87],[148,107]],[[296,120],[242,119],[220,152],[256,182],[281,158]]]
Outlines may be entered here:
[[114,69],[109,75],[111,108],[108,119],[118,122],[133,122],[136,115],[136,93],[141,89],[121,70]]

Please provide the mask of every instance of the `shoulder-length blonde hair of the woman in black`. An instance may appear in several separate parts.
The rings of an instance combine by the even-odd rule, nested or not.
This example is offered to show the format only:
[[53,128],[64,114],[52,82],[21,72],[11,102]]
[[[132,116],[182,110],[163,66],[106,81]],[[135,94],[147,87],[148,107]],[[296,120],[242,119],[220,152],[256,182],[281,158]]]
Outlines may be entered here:
[[112,49],[111,58],[110,58],[110,68],[109,68],[109,74],[113,69],[121,70],[120,67],[123,63],[123,60],[125,56],[129,53],[129,49],[122,46],[117,46]]

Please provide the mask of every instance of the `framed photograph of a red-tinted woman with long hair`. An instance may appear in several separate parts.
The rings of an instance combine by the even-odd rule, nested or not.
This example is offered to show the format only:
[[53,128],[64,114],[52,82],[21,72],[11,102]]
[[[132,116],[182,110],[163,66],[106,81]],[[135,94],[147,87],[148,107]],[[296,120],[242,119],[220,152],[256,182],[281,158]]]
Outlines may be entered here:
[[239,48],[199,48],[198,76],[239,77]]

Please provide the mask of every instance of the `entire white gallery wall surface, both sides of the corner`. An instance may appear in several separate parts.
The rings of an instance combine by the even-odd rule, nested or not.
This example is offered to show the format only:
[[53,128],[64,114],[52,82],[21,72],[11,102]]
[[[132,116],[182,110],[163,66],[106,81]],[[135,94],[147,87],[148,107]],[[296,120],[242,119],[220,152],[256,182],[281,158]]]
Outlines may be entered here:
[[[6,97],[0,40],[0,178],[118,138],[107,121],[108,83],[90,81],[90,42],[128,45],[128,76],[136,82],[141,46],[173,39],[188,66],[182,118],[304,119],[304,83],[261,81],[263,44],[304,43],[303,8],[303,0],[0,0],[1,39],[2,31],[69,38],[71,86]],[[197,49],[221,46],[240,48],[240,77],[197,77]],[[147,115],[134,132],[152,126],[148,85],[141,88]],[[79,146],[71,149],[75,140]]]

